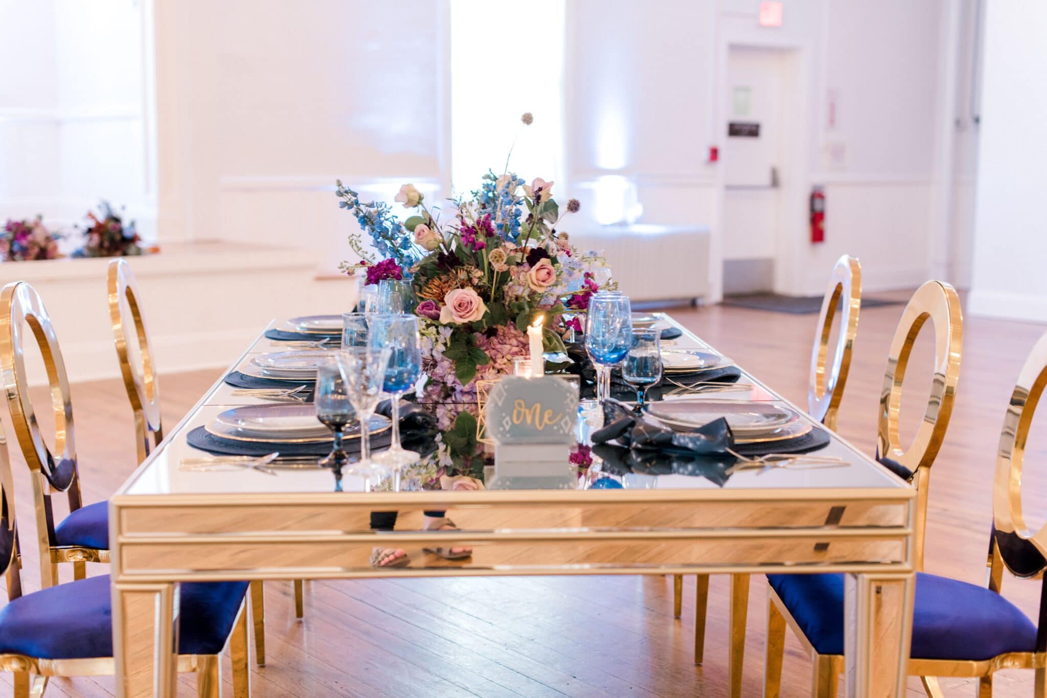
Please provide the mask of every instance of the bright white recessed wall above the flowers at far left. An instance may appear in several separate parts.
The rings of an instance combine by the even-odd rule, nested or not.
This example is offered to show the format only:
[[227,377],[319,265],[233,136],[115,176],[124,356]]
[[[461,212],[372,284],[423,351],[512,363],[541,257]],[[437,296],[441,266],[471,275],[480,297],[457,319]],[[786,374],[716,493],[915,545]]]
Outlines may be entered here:
[[104,198],[154,237],[148,4],[0,0],[0,218],[67,227]]

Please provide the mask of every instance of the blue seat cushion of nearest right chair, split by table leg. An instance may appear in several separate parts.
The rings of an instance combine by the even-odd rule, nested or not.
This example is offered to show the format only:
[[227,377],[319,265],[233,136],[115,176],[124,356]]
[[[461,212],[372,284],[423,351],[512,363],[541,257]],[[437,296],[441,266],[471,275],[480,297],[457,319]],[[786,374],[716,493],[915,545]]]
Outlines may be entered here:
[[[844,576],[767,575],[767,581],[819,654],[844,653]],[[980,660],[1032,652],[1037,627],[986,588],[916,575],[912,657]]]

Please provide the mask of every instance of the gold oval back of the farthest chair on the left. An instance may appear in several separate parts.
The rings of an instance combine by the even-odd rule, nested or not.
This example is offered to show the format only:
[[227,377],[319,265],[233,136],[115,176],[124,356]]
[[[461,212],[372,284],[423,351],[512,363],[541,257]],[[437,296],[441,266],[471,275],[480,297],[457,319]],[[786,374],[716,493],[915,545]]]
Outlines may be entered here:
[[122,258],[110,262],[109,319],[113,325],[113,341],[124,387],[134,411],[135,443],[138,463],[141,463],[163,441],[163,428],[160,424],[160,387],[138,297],[131,265]]

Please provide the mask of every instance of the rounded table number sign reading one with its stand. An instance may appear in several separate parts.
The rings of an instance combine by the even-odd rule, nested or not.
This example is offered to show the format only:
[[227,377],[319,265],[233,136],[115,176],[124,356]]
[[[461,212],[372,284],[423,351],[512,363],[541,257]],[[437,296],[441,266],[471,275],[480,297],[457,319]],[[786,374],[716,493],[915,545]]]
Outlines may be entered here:
[[487,395],[485,421],[496,477],[567,473],[578,423],[578,392],[567,381],[503,378]]

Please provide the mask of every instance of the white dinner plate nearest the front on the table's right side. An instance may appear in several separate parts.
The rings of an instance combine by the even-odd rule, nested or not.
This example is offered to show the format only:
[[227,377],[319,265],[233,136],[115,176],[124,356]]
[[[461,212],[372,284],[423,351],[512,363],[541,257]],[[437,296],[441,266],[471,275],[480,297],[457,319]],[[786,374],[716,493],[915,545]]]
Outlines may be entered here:
[[725,418],[736,434],[780,429],[799,419],[787,407],[741,400],[665,400],[647,405],[647,413],[672,426],[693,429]]

